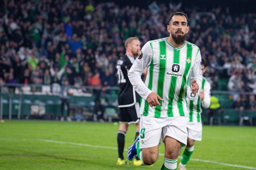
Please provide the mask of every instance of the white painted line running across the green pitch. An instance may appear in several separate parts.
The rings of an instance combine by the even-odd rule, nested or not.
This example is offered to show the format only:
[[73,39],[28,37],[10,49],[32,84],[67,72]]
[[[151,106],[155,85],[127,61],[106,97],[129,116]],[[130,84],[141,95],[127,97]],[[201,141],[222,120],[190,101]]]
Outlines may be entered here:
[[[19,139],[0,139],[0,140],[18,140]],[[26,141],[27,139],[22,139],[22,141]],[[29,139],[33,140],[33,139]],[[42,142],[51,142],[51,143],[61,143],[61,144],[71,144],[71,145],[78,145],[78,146],[85,146],[85,147],[93,147],[93,148],[105,148],[105,149],[114,149],[117,150],[118,148],[115,147],[106,147],[106,146],[100,146],[100,145],[90,145],[90,144],[83,144],[83,143],[74,143],[74,142],[65,142],[65,141],[56,141],[56,140],[47,140],[47,139],[36,139],[37,141],[42,141]],[[127,149],[124,149],[127,151]],[[160,156],[164,156],[164,154],[159,153]],[[182,156],[178,157],[179,159],[182,159]],[[235,165],[235,164],[227,164],[227,163],[222,163],[222,162],[214,162],[214,161],[207,161],[207,160],[200,160],[200,159],[193,159],[190,158],[191,161],[199,161],[199,162],[206,162],[206,163],[212,163],[212,164],[219,164],[219,165],[226,165],[226,166],[233,166],[233,167],[239,167],[239,168],[246,168],[246,169],[255,169],[255,167],[249,167],[249,166],[241,166],[241,165]]]

